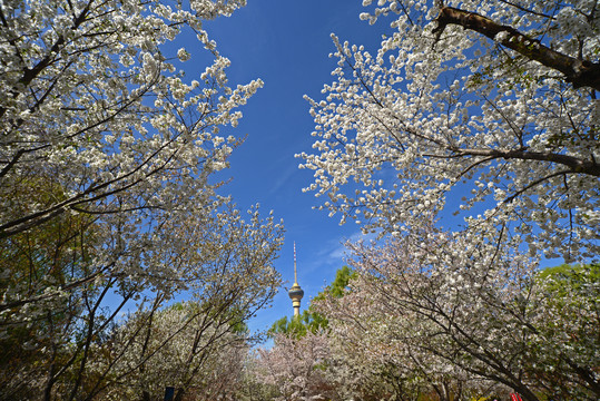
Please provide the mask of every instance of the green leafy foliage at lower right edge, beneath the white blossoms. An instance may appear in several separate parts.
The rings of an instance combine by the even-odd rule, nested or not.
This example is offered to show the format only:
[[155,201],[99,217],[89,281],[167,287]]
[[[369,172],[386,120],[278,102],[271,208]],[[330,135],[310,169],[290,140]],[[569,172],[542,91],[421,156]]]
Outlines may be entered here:
[[[588,372],[598,370],[600,350],[600,265],[550,267],[540,272],[537,281],[544,299],[545,319],[540,321],[535,339],[545,339],[547,345],[530,346],[538,352],[539,365],[545,366],[532,368],[534,374],[543,376],[554,394],[591,399],[594,395],[590,390],[597,388],[597,381]],[[559,372],[576,372],[583,378],[582,385],[565,384],[561,381],[565,373]]]

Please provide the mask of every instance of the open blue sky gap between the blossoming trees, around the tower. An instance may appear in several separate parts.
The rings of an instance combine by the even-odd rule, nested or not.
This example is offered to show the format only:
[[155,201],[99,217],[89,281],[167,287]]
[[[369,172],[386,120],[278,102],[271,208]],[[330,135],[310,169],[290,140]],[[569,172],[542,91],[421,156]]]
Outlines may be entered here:
[[[342,243],[358,235],[354,224],[338,225],[338,218],[314,211],[318,204],[314,194],[302,188],[312,179],[312,172],[298,169],[294,157],[311,150],[314,123],[304,95],[321,97],[323,85],[332,81],[336,59],[331,33],[342,41],[365,45],[376,51],[385,25],[368,26],[358,14],[362,1],[348,0],[249,0],[229,18],[205,25],[219,52],[232,60],[227,74],[230,85],[260,78],[265,82],[242,111],[244,118],[232,131],[246,141],[230,157],[226,176],[232,182],[223,188],[238,207],[260,204],[263,214],[271,209],[283,218],[286,235],[279,258],[275,262],[286,285],[294,280],[293,244],[297,248],[298,282],[305,291],[302,307],[308,305],[324,285],[343,266]],[[179,40],[178,40],[179,42]],[[193,55],[183,67],[194,79],[206,65],[197,42],[181,43]],[[197,47],[195,49],[194,47]],[[197,69],[197,70],[196,70]],[[227,133],[229,134],[229,133]],[[250,322],[250,329],[263,330],[292,314],[292,303],[284,288],[273,307],[264,310]]]

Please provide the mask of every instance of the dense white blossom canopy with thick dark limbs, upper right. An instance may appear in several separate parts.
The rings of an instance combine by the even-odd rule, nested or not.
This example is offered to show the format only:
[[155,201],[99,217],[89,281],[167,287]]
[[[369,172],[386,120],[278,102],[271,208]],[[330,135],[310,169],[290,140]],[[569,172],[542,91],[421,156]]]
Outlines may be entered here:
[[596,258],[597,2],[372,3],[362,19],[391,20],[380,49],[333,36],[336,80],[308,98],[315,150],[298,156],[321,207],[394,234],[456,212],[474,242]]

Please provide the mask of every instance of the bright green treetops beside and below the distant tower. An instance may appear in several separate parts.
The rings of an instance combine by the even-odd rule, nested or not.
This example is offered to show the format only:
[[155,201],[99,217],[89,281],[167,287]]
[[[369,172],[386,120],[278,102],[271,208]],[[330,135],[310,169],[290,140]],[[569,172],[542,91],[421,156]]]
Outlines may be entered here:
[[[348,291],[348,283],[356,276],[356,273],[348,266],[343,266],[337,270],[334,281],[327,285],[322,292],[319,292],[315,300],[323,300],[326,296],[342,297],[344,293]],[[268,330],[268,336],[273,338],[275,334],[285,334],[287,336],[294,336],[301,339],[306,335],[308,331],[316,334],[321,331],[327,330],[328,321],[321,314],[316,313],[312,306],[304,310],[299,316],[291,317],[284,316],[277,320]]]

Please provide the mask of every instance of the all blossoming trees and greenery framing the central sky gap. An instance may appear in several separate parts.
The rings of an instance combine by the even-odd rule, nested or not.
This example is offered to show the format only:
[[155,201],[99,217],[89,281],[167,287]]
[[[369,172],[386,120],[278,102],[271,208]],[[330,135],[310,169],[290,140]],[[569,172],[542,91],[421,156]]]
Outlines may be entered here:
[[363,1],[298,157],[376,239],[271,349],[283,227],[217,179],[263,82],[204,29],[245,3],[0,3],[0,400],[600,399],[598,2]]

